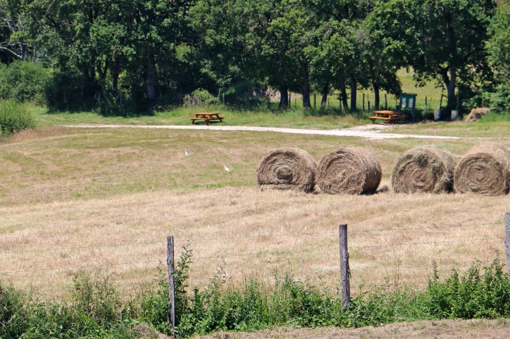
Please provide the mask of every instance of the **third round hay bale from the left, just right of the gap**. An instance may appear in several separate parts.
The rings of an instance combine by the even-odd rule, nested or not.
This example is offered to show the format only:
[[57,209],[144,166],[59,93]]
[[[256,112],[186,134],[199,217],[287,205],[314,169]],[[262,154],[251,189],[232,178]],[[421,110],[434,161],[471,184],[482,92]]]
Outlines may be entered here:
[[393,167],[395,193],[444,193],[453,188],[455,160],[435,146],[418,146],[402,154]]

